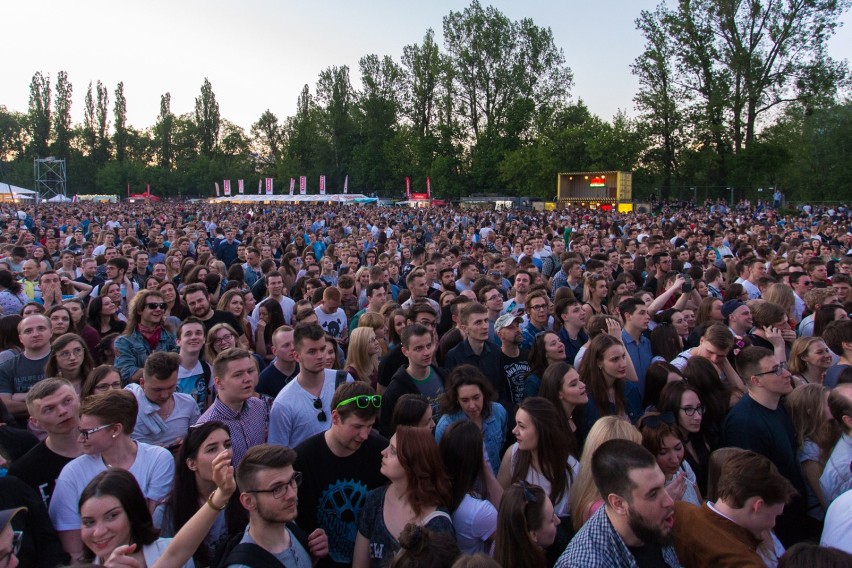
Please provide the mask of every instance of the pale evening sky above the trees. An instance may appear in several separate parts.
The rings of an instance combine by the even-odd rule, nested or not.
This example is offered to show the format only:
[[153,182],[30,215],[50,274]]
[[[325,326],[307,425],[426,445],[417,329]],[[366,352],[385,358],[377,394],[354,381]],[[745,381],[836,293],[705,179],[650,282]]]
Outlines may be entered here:
[[[668,0],[672,5],[673,0]],[[630,64],[642,52],[634,21],[659,0],[482,0],[512,20],[531,18],[553,30],[574,74],[573,100],[604,119],[634,114],[638,83]],[[72,119],[83,119],[89,81],[110,92],[124,82],[128,123],[156,122],[160,96],[172,112],[192,112],[204,78],[210,79],[222,118],[248,130],[265,110],[283,120],[295,111],[305,84],[333,65],[348,65],[358,84],[358,60],[367,54],[399,61],[405,45],[435,30],[463,0],[5,0],[0,105],[26,112],[33,74],[58,71],[74,87]],[[852,16],[843,18],[829,55],[852,59]],[[12,24],[12,25],[9,25]]]

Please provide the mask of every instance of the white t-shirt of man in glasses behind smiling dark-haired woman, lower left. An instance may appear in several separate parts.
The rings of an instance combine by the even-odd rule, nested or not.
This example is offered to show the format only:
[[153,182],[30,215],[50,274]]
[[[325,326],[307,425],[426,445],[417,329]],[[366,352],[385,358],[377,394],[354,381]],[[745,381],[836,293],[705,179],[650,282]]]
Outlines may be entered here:
[[[137,442],[136,461],[128,470],[142,489],[146,499],[162,501],[172,489],[175,460],[165,448]],[[50,499],[50,521],[57,531],[80,528],[77,504],[83,489],[107,466],[98,455],[82,455],[62,468]]]

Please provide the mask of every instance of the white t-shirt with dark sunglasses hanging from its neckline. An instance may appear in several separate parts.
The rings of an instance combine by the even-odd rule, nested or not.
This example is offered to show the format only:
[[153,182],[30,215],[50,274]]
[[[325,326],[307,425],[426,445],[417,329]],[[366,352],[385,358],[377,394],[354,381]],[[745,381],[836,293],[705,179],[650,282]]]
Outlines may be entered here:
[[[314,406],[317,397],[303,389],[298,379],[299,376],[296,375],[287,383],[272,403],[267,440],[270,444],[295,448],[314,434],[325,432],[331,427],[331,399],[334,397],[337,371],[325,370],[325,380],[319,396],[322,408]],[[351,383],[353,380],[352,375],[347,373],[345,382]],[[325,415],[324,421],[318,418],[320,412]]]

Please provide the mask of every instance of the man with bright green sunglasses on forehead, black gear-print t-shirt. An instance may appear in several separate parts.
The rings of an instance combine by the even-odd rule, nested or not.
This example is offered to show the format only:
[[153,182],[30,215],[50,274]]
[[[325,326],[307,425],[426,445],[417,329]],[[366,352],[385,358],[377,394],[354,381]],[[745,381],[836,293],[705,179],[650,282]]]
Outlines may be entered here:
[[331,428],[296,447],[294,467],[312,472],[299,490],[299,522],[328,535],[329,556],[321,568],[352,563],[361,505],[387,482],[379,469],[388,443],[373,431],[381,402],[367,383],[340,385],[331,400]]

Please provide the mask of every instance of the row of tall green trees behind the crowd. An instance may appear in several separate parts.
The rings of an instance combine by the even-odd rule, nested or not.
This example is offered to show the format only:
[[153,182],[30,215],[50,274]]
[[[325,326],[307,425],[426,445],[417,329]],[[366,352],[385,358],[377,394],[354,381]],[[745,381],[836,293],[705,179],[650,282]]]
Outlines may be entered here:
[[[160,100],[153,126],[127,124],[124,86],[88,84],[72,124],[67,73],[37,72],[26,113],[0,106],[0,177],[31,187],[33,158],[68,164],[70,193],[213,193],[213,182],[321,174],[338,192],[398,197],[404,178],[454,198],[493,191],[552,199],[556,173],[632,170],[637,197],[756,196],[776,186],[791,199],[840,199],[852,182],[852,105],[839,102],[846,63],[825,44],[852,0],[661,5],[636,21],[646,38],[632,72],[639,114],[611,120],[572,100],[573,75],[549,28],[512,21],[473,2],[428,30],[399,61],[362,57],[320,72],[293,116],[264,112],[247,132],[220,114],[205,79],[192,113]],[[618,70],[613,70],[617,72]],[[359,84],[356,88],[353,84]],[[236,186],[234,186],[236,187]]]

